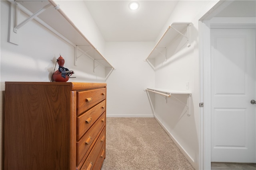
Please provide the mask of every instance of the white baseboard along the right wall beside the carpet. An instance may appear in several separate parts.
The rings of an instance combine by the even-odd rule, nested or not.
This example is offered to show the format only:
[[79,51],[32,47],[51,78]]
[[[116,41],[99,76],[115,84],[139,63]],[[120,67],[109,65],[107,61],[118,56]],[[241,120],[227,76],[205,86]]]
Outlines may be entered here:
[[186,152],[186,150],[180,145],[180,143],[178,141],[176,141],[176,139],[172,136],[172,134],[166,129],[166,127],[162,124],[162,122],[156,117],[156,115],[154,116],[155,119],[158,121],[158,123],[161,125],[161,127],[164,129],[164,131],[166,131],[166,133],[170,136],[170,138],[172,139],[172,141],[176,144],[176,146],[180,149],[180,151],[182,152],[182,154],[187,158],[188,162],[190,162],[190,164],[195,168],[197,167],[195,164],[195,161],[193,158],[191,158],[191,156]]

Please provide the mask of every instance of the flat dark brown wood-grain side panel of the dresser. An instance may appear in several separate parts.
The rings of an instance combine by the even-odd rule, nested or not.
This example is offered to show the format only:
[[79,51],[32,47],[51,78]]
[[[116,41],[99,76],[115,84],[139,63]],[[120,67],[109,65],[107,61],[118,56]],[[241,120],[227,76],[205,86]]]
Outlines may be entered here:
[[6,86],[5,170],[70,167],[69,101],[64,86]]

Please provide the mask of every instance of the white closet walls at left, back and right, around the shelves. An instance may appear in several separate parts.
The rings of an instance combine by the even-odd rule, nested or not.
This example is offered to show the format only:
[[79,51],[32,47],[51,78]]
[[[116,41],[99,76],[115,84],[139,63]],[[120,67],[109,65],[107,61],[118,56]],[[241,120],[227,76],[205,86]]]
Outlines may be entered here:
[[[180,1],[172,12],[163,31],[172,22],[192,22],[192,45],[185,47],[174,56],[169,56],[163,66],[154,71],[144,60],[154,47],[152,42],[108,42],[105,43],[94,21],[84,8],[82,1],[56,1],[66,15],[86,35],[104,57],[116,68],[106,79],[108,84],[107,116],[152,117],[153,112],[163,122],[166,129],[176,139],[181,150],[192,165],[199,169],[199,53],[198,53],[198,20],[216,1]],[[74,2],[74,3],[73,3]],[[2,97],[5,81],[50,81],[54,64],[59,54],[65,59],[64,67],[74,70],[77,78],[69,81],[104,82],[105,71],[100,66],[93,72],[92,60],[80,57],[74,66],[74,47],[56,37],[42,25],[30,21],[20,30],[20,45],[7,42],[8,35],[8,3],[0,1],[1,6],[1,122]],[[76,9],[75,12],[73,9]],[[79,10],[80,9],[80,10]],[[83,12],[84,21],[77,16]],[[24,15],[22,15],[24,18]],[[21,18],[20,18],[21,19]],[[159,34],[162,35],[163,31]],[[159,38],[158,38],[159,39]],[[156,39],[156,41],[158,41]],[[157,61],[162,62],[162,61]],[[58,66],[58,64],[57,64]],[[174,90],[185,90],[189,82],[192,92],[191,115],[184,114],[184,106],[173,98],[168,99],[156,95],[148,96],[144,88],[156,86]],[[181,100],[185,100],[180,97]],[[155,105],[150,105],[150,100]],[[155,110],[152,110],[154,107]],[[2,126],[0,127],[2,128]],[[2,131],[2,129],[1,129]],[[1,133],[2,134],[2,133]],[[2,136],[1,136],[2,137]],[[1,139],[2,141],[2,139]],[[1,145],[2,146],[2,145]],[[1,154],[2,156],[2,154]]]

